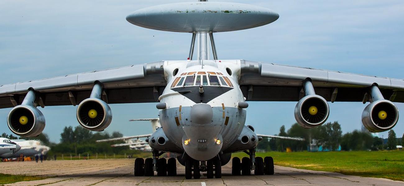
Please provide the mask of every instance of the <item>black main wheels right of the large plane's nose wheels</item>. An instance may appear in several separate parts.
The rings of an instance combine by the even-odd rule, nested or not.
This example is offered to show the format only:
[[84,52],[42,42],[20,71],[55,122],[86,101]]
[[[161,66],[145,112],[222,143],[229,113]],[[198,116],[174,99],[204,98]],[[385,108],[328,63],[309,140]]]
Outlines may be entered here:
[[[234,157],[232,159],[231,175],[251,175],[251,171],[254,170],[255,175],[274,175],[274,159],[270,156],[255,157],[255,149],[244,151],[250,157],[243,157],[240,162],[240,158]],[[241,174],[240,174],[241,172]]]

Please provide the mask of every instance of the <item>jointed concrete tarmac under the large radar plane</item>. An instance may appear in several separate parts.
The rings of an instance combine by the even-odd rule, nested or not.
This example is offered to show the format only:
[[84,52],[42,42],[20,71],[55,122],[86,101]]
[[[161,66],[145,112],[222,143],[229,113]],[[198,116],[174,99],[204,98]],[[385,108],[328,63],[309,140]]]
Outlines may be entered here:
[[135,159],[90,159],[0,163],[0,173],[53,176],[44,180],[17,182],[6,186],[404,186],[404,182],[383,178],[362,178],[339,173],[275,166],[275,175],[232,176],[231,163],[222,167],[221,179],[185,180],[185,170],[177,165],[178,176],[135,177]]

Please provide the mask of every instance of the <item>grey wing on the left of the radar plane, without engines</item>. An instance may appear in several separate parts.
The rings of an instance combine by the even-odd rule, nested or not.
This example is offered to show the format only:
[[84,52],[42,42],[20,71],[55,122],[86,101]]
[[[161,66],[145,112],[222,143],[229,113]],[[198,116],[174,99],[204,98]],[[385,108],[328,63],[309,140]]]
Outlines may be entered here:
[[95,81],[103,84],[102,98],[107,103],[158,102],[166,86],[163,64],[161,61],[1,85],[0,108],[20,105],[28,89],[39,93],[41,107],[78,105],[90,97]]

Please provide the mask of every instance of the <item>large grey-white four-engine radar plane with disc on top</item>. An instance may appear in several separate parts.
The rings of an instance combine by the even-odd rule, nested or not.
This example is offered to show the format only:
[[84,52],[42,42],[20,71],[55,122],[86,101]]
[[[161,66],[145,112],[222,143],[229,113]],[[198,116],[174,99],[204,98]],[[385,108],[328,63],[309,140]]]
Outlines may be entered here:
[[[13,133],[37,136],[45,127],[37,106],[78,105],[79,124],[103,131],[112,121],[109,104],[157,103],[161,127],[145,135],[153,157],[135,159],[134,174],[154,176],[156,171],[157,176],[175,176],[178,161],[185,166],[186,179],[198,179],[200,172],[221,178],[221,166],[230,160],[233,175],[274,174],[272,157],[255,156],[266,135],[245,125],[250,101],[297,101],[295,119],[304,128],[324,124],[328,102],[335,101],[369,102],[362,124],[370,132],[397,124],[399,112],[393,102],[404,102],[403,80],[218,57],[214,33],[260,27],[278,18],[268,8],[206,0],[136,10],[126,17],[133,25],[191,33],[187,60],[2,85],[0,108],[13,107],[7,117]],[[231,153],[240,151],[248,157],[231,159]],[[166,152],[176,153],[177,159],[159,158]]]

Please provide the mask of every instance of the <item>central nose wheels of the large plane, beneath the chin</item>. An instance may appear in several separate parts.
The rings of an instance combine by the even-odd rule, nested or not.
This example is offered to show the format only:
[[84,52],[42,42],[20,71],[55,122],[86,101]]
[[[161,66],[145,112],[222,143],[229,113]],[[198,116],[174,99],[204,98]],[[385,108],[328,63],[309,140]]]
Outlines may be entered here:
[[192,173],[194,173],[194,179],[199,179],[200,172],[206,172],[206,178],[210,179],[215,176],[215,178],[222,178],[222,164],[219,158],[215,157],[208,161],[198,161],[195,159],[187,159],[185,161],[185,179],[189,180],[192,178]]

